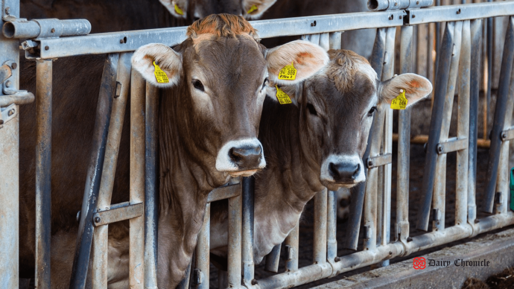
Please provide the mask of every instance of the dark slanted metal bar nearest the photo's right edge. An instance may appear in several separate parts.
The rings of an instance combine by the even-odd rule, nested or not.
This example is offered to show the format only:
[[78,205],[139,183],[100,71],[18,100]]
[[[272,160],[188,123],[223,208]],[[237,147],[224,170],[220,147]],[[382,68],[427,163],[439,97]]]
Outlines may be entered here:
[[512,61],[514,60],[514,17],[509,17],[505,45],[503,47],[502,67],[500,69],[500,82],[498,84],[498,96],[494,110],[494,122],[491,132],[491,146],[489,148],[489,162],[487,164],[487,188],[484,211],[492,213],[494,206],[494,195],[496,189],[496,176],[500,162],[500,148],[502,146],[501,132],[505,121],[507,107],[505,103],[508,98],[510,75],[512,72]]

